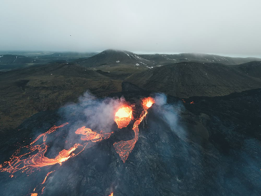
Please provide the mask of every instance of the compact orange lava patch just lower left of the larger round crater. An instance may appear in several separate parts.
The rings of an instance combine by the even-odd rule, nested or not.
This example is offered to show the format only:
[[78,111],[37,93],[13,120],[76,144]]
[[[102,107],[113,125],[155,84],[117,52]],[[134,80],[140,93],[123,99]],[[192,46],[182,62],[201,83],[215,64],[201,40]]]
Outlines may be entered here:
[[81,136],[81,140],[85,141],[85,140],[91,140],[92,142],[99,142],[103,139],[108,139],[111,134],[113,134],[113,131],[112,132],[109,132],[109,133],[101,133],[98,134],[94,131],[92,131],[90,128],[85,128],[85,126],[77,129],[75,131],[76,134],[82,134],[83,136]]

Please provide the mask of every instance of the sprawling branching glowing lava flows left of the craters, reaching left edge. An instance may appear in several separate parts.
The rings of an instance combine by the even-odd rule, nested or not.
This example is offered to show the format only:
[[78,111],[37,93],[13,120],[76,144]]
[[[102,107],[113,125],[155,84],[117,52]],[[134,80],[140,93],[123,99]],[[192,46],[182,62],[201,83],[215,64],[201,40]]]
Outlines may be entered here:
[[[62,165],[62,163],[67,161],[69,158],[75,157],[76,155],[81,153],[88,145],[88,142],[84,144],[75,143],[68,150],[63,149],[62,151],[58,152],[58,155],[53,159],[45,157],[45,153],[48,149],[48,146],[45,142],[43,142],[40,145],[32,145],[37,140],[39,140],[41,136],[44,136],[43,141],[45,141],[47,134],[50,134],[51,132],[54,132],[57,128],[60,128],[67,124],[68,123],[64,123],[60,126],[53,126],[44,134],[39,135],[37,139],[35,139],[30,145],[24,146],[21,149],[16,150],[9,161],[4,162],[3,165],[0,165],[0,171],[7,171],[12,174],[16,171],[22,170],[22,172],[26,171],[28,173],[31,172],[33,168],[55,165],[57,163]],[[108,139],[113,132],[102,133],[101,131],[101,133],[98,134],[92,131],[91,129],[85,128],[85,126],[83,126],[82,128],[77,129],[75,133],[83,135],[81,137],[81,140],[90,140],[92,142],[98,142],[103,139]],[[22,154],[21,150],[26,150],[27,152]],[[47,176],[49,174],[50,173],[48,173]]]

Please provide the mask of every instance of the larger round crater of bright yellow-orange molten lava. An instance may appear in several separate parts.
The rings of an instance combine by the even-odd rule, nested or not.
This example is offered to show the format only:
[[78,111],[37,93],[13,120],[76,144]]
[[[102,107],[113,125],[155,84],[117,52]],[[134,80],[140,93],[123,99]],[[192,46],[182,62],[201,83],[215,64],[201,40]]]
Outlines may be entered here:
[[117,123],[118,128],[122,129],[123,127],[128,126],[132,119],[132,108],[130,106],[122,106],[115,113],[114,121]]

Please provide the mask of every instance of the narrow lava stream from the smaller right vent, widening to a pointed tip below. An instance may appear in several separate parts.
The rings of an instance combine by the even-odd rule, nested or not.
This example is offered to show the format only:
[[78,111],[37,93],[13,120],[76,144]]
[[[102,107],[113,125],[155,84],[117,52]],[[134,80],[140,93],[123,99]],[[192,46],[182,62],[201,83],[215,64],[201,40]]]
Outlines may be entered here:
[[133,128],[132,128],[132,130],[135,133],[134,138],[132,140],[128,140],[128,141],[115,142],[113,144],[116,152],[120,155],[120,158],[122,159],[123,163],[125,163],[129,154],[131,153],[132,149],[134,148],[135,143],[138,140],[139,124],[146,117],[146,115],[148,113],[147,109],[150,108],[153,103],[154,103],[154,99],[151,97],[147,97],[147,98],[143,99],[143,103],[142,103],[143,111],[140,114],[140,118],[138,120],[136,120],[135,123],[133,124]]

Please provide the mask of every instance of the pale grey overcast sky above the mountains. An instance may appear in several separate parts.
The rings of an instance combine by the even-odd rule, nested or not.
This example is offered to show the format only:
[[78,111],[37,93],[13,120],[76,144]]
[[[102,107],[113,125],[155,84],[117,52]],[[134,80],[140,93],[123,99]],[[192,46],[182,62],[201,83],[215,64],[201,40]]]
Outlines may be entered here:
[[261,57],[260,0],[3,0],[0,10],[0,50]]

